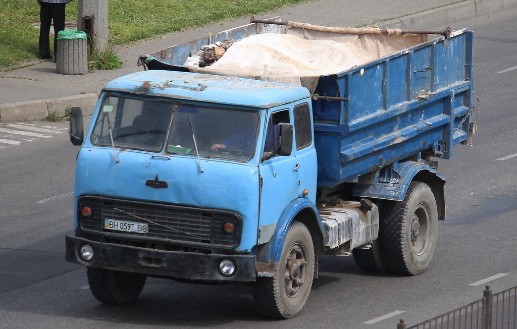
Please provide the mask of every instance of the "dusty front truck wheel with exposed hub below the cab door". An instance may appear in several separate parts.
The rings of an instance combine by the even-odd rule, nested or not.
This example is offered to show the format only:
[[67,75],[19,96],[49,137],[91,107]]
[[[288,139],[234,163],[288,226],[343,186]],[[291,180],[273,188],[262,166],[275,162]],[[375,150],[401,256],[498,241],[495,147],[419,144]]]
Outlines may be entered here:
[[314,245],[307,226],[293,222],[285,235],[278,271],[259,277],[253,299],[260,313],[276,319],[296,317],[305,306],[314,277]]

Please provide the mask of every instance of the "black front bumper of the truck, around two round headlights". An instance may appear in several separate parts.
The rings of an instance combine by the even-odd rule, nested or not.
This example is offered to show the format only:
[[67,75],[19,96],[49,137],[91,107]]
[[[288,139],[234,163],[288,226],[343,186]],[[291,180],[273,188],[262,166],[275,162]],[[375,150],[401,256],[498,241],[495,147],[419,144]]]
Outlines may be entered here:
[[[83,244],[94,250],[94,258],[86,262],[79,256]],[[174,279],[250,282],[255,281],[255,255],[221,255],[168,250],[147,249],[113,243],[101,243],[83,238],[66,236],[65,259],[85,266],[142,273],[149,276]],[[231,259],[236,264],[235,274],[222,275],[218,268],[223,259]]]

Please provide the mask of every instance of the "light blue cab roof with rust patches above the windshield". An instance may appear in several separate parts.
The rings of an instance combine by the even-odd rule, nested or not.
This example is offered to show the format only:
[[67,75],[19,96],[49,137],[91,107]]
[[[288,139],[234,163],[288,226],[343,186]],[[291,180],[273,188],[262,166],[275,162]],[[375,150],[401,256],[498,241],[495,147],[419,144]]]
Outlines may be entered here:
[[149,70],[121,76],[104,90],[269,108],[310,96],[305,87],[233,76]]

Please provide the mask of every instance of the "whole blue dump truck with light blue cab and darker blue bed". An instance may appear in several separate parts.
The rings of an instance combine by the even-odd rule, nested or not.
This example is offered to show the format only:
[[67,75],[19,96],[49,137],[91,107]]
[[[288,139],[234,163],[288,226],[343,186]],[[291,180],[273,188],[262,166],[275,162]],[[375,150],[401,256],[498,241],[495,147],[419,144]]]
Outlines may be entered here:
[[[374,28],[399,50],[294,79],[184,65],[205,45],[313,33],[294,25],[253,21],[142,56],[149,70],[109,82],[85,133],[73,108],[66,260],[85,265],[97,300],[129,303],[146,277],[247,283],[259,312],[284,319],[305,306],[318,257],[428,268],[446,213],[437,160],[473,133],[473,32]],[[365,43],[360,30],[321,33]]]

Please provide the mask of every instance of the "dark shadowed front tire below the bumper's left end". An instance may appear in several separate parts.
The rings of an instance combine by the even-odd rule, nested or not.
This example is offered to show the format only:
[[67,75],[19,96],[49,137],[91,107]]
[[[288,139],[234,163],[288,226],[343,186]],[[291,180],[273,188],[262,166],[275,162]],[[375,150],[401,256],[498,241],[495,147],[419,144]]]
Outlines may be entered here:
[[128,304],[140,295],[146,276],[139,273],[87,268],[88,284],[94,297],[104,304]]

